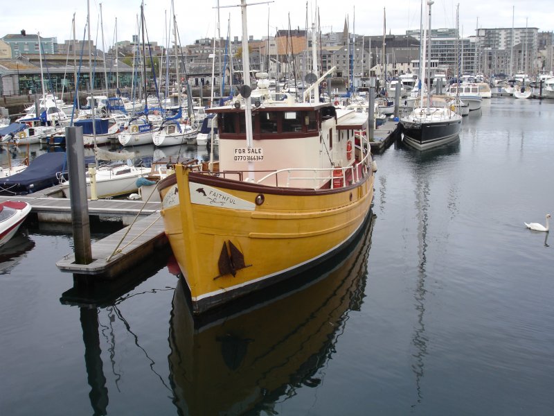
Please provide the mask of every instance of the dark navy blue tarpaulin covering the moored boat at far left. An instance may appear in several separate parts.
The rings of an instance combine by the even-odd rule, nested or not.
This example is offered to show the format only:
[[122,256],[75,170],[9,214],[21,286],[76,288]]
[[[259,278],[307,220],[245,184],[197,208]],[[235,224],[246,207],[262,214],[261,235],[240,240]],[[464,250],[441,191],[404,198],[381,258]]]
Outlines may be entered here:
[[30,162],[21,173],[0,180],[0,195],[26,195],[60,183],[57,173],[65,172],[67,179],[67,158],[65,152],[43,153]]

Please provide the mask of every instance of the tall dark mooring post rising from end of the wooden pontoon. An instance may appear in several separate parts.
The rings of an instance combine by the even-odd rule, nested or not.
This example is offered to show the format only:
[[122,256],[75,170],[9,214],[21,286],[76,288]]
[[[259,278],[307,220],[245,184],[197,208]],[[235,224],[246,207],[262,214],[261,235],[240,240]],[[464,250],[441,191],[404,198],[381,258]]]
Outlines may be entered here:
[[91,229],[89,205],[87,202],[87,179],[84,177],[84,148],[82,127],[66,127],[67,166],[69,171],[69,193],[71,196],[71,223],[75,243],[75,263],[92,262]]

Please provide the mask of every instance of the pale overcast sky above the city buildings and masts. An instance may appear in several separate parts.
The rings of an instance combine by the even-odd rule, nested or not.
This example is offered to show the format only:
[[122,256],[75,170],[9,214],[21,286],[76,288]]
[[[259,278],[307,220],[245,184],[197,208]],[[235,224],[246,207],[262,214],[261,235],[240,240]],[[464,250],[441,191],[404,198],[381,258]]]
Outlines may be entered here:
[[[248,0],[262,3],[263,0]],[[7,0],[6,0],[7,3]],[[220,6],[235,6],[240,0],[220,0]],[[511,28],[512,16],[515,27],[535,27],[539,31],[554,30],[554,2],[552,0],[435,0],[431,9],[432,28],[456,27],[456,5],[460,4],[460,30],[463,36],[475,34],[475,28]],[[355,6],[356,5],[356,6]],[[382,35],[383,15],[386,9],[386,33],[404,35],[406,29],[420,27],[420,0],[355,1],[319,0],[274,0],[271,3],[253,4],[247,8],[248,33],[255,39],[274,35],[278,29],[301,29],[306,26],[306,13],[311,25],[312,15],[319,8],[321,31],[342,31],[348,17],[352,28],[359,35]],[[104,42],[107,47],[114,43],[116,26],[118,40],[131,40],[137,33],[136,19],[140,14],[140,0],[111,0],[102,2]],[[170,20],[170,0],[145,1],[145,19],[151,41],[166,44],[166,19]],[[181,44],[190,44],[202,37],[217,35],[217,0],[175,0],[175,15]],[[11,10],[10,10],[11,9]],[[308,10],[308,11],[306,11]],[[82,39],[87,20],[87,0],[26,0],[3,6],[0,15],[0,37],[9,33],[40,32],[43,37],[57,37],[57,41],[72,38],[71,19],[75,13],[77,38]],[[100,35],[100,2],[90,0],[91,39],[102,47]],[[241,15],[238,7],[220,8],[220,33],[242,39]],[[171,39],[172,39],[172,35]]]

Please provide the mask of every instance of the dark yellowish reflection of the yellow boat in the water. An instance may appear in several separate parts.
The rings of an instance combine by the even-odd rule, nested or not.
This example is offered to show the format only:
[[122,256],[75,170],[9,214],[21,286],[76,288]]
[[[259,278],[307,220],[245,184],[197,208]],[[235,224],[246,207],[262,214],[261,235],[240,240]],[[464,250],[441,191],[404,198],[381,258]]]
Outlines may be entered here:
[[169,334],[170,382],[179,414],[271,413],[291,390],[319,384],[314,374],[334,351],[346,315],[359,310],[364,297],[374,215],[367,218],[345,250],[298,279],[307,284],[271,288],[256,300],[244,300],[248,304],[235,302],[240,311],[193,317],[180,277]]

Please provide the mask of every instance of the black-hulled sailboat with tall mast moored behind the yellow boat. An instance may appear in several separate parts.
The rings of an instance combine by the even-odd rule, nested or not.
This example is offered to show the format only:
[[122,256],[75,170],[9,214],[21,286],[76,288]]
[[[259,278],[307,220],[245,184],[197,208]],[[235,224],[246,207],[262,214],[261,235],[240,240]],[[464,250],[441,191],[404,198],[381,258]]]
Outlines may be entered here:
[[[454,105],[451,105],[445,98],[431,96],[431,5],[433,3],[434,1],[427,0],[429,8],[429,24],[427,27],[427,36],[429,37],[427,90],[420,89],[418,105],[413,107],[411,112],[400,119],[402,140],[418,150],[440,146],[456,139],[462,123],[462,116],[454,112]],[[423,42],[422,50],[425,53],[425,37]],[[425,59],[422,59],[420,63],[423,64],[424,62]],[[421,64],[421,74],[423,74],[425,73],[425,68]]]

